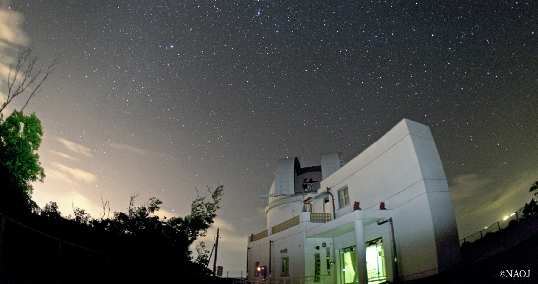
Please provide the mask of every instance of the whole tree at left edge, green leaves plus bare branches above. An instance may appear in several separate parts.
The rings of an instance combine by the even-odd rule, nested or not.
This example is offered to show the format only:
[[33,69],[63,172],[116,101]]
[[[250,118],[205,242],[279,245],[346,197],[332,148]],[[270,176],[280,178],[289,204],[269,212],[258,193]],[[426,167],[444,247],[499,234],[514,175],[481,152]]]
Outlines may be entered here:
[[[61,60],[59,54],[54,55],[45,69],[37,66],[38,59],[32,49],[19,53],[15,65],[10,65],[8,96],[0,105],[0,210],[9,214],[37,208],[31,199],[31,182],[43,182],[45,177],[37,154],[43,127],[35,113],[24,115],[23,110]],[[29,94],[23,108],[4,120],[6,106],[23,94]]]

